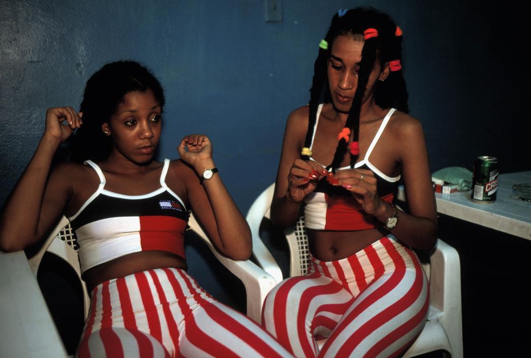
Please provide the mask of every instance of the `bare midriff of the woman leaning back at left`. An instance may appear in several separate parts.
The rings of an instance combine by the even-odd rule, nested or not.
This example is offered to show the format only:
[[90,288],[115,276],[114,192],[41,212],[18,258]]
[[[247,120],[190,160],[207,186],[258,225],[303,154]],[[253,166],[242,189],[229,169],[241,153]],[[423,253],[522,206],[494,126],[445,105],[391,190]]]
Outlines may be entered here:
[[188,265],[182,257],[167,251],[141,251],[92,267],[83,273],[83,279],[91,292],[94,287],[110,279],[166,267],[186,270]]

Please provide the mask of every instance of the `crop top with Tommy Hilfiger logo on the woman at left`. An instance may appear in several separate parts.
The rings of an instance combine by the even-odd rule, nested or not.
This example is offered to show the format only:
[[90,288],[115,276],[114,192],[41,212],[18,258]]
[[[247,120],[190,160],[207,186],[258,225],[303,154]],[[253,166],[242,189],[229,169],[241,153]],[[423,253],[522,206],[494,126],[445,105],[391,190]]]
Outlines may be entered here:
[[68,218],[78,237],[81,272],[140,251],[168,251],[185,259],[184,231],[190,214],[181,198],[166,185],[169,159],[162,167],[161,187],[143,195],[105,190],[100,167],[90,160],[85,164],[96,171],[100,184]]

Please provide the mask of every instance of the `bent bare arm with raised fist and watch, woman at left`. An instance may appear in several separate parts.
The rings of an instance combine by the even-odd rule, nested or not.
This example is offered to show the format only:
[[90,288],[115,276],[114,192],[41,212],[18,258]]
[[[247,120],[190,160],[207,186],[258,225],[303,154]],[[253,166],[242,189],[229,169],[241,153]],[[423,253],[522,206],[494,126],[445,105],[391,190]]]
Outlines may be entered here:
[[[212,159],[212,146],[206,135],[184,137],[178,151],[181,159],[199,175],[205,169],[216,167]],[[189,173],[186,187],[192,212],[216,248],[233,260],[249,259],[252,253],[251,230],[221,181],[220,173],[202,183],[198,175]]]

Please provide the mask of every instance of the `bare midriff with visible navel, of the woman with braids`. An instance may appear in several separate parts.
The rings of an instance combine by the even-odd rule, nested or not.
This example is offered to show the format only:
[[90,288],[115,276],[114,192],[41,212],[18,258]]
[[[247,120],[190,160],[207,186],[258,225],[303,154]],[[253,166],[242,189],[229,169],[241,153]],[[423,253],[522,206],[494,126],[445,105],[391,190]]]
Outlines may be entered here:
[[326,231],[306,229],[313,257],[321,261],[344,259],[365,249],[389,233],[383,228],[363,231]]

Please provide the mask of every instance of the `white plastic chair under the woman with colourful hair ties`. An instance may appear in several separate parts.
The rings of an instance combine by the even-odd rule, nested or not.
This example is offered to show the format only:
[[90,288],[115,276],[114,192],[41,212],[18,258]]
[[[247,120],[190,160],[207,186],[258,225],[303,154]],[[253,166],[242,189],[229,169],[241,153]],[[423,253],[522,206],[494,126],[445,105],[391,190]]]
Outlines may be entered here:
[[[256,261],[279,283],[282,280],[282,274],[276,261],[269,252],[261,257],[261,252],[267,249],[259,235],[262,219],[270,217],[274,190],[275,184],[272,184],[259,195],[249,209],[247,221],[253,234],[253,245],[259,248],[258,251],[253,250]],[[309,261],[304,217],[300,216],[296,226],[286,229],[285,234],[290,250],[289,276],[304,275]],[[452,357],[461,358],[463,357],[463,329],[459,255],[454,248],[439,239],[430,257],[430,262],[423,263],[423,268],[430,281],[430,309],[421,335],[404,354],[404,357],[444,350]],[[279,274],[276,273],[277,270]],[[318,342],[319,345],[322,343]]]

